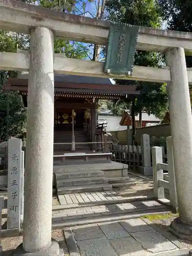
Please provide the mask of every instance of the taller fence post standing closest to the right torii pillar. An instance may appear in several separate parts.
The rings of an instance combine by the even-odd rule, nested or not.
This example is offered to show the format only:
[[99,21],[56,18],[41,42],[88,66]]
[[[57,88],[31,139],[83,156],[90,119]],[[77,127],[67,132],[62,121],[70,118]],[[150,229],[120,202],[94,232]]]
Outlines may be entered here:
[[175,212],[178,211],[177,202],[177,189],[175,179],[174,157],[173,157],[173,144],[172,137],[166,138],[167,145],[167,164],[168,164],[168,177],[169,177],[169,200]]

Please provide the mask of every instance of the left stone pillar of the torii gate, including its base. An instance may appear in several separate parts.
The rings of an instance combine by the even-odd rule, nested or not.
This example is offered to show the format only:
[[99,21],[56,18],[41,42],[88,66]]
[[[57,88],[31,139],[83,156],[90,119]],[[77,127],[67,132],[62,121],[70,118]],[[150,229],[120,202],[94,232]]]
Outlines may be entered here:
[[[31,31],[23,248],[14,254],[59,255],[51,240],[54,129],[53,33]],[[22,251],[23,250],[23,251]],[[21,252],[22,251],[22,252]],[[22,255],[23,255],[22,254]]]

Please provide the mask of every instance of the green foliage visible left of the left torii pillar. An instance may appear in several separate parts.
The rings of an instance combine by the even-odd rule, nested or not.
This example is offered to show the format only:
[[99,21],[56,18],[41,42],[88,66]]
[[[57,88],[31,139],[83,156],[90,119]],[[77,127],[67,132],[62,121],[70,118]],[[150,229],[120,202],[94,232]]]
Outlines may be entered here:
[[[26,49],[28,39],[18,33],[0,31],[0,51],[16,52],[19,46]],[[19,136],[26,128],[26,108],[21,97],[15,92],[5,93],[2,86],[8,77],[16,77],[16,72],[0,71],[0,140],[6,140],[7,136]]]

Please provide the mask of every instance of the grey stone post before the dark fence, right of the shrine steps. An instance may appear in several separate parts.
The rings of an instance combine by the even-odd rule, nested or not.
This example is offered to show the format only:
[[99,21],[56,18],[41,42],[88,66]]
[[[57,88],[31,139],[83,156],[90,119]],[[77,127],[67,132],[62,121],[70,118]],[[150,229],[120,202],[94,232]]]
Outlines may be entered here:
[[141,156],[142,156],[142,166],[139,170],[145,176],[153,175],[153,168],[151,163],[151,147],[150,147],[150,135],[141,135]]

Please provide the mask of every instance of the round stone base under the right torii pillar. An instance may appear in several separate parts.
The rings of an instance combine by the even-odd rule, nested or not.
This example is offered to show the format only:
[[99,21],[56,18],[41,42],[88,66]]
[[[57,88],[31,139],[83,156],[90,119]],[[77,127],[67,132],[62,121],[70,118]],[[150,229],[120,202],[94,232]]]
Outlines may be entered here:
[[180,218],[176,218],[170,224],[169,231],[180,239],[192,241],[192,226],[183,223]]

